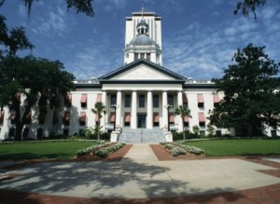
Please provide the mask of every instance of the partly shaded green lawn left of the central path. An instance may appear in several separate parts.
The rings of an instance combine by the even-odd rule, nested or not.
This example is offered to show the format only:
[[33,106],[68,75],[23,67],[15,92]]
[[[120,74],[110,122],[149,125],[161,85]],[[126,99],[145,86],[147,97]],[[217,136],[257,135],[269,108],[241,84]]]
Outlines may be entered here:
[[71,159],[78,150],[92,145],[78,141],[3,144],[0,159]]

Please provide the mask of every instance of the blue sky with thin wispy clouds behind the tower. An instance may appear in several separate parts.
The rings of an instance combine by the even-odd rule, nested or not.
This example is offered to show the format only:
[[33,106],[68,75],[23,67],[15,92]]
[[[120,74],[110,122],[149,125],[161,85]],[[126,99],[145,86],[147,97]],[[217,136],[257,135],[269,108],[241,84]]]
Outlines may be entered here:
[[[258,19],[233,15],[235,0],[145,0],[162,17],[163,66],[186,78],[221,78],[237,48],[266,46],[280,62],[280,1],[267,0]],[[19,0],[0,8],[9,27],[25,27],[32,54],[64,63],[77,79],[99,77],[123,66],[125,17],[141,0],[94,0],[94,17],[67,11],[64,0],[34,2],[31,16]],[[20,54],[29,54],[22,52]]]

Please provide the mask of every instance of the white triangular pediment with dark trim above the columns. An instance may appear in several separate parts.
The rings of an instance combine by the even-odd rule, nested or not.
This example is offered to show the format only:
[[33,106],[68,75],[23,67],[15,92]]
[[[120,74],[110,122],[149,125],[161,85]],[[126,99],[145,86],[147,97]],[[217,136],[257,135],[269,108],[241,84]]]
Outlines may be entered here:
[[139,81],[139,80],[164,80],[164,81],[173,81],[173,80],[186,80],[183,76],[178,75],[172,71],[169,71],[167,68],[154,64],[151,61],[146,59],[139,59],[134,61],[126,66],[118,68],[111,73],[108,73],[101,78],[102,80],[130,80],[130,81]]

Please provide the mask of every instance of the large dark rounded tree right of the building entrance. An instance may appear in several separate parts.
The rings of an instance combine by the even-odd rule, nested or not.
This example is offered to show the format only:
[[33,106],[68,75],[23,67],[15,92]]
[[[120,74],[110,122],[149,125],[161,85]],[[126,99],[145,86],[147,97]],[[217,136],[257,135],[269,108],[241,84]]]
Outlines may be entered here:
[[225,97],[210,112],[211,124],[224,128],[251,129],[262,134],[262,125],[279,125],[279,63],[265,54],[265,47],[248,44],[238,49],[221,79],[214,79]]

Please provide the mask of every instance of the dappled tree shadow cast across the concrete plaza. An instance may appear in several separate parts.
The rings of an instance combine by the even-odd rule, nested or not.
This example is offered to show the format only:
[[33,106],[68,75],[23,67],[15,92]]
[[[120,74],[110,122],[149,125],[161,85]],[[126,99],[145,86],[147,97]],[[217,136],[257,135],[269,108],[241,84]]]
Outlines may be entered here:
[[[169,168],[137,163],[131,159],[121,162],[37,163],[16,170],[15,173],[25,174],[13,180],[0,182],[0,189],[90,198],[125,198],[124,195],[134,197],[139,193],[142,197],[168,198],[235,190],[216,188],[203,191],[191,188],[188,182],[171,180],[167,174],[168,170]],[[127,184],[130,184],[130,188],[124,187]],[[0,196],[3,192],[0,191]],[[232,195],[234,196],[225,197],[226,201],[233,202],[241,198],[241,194]],[[216,196],[213,194],[207,199],[214,198]]]

